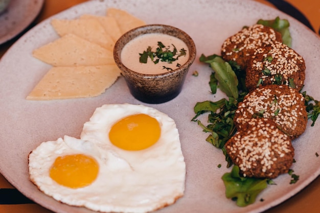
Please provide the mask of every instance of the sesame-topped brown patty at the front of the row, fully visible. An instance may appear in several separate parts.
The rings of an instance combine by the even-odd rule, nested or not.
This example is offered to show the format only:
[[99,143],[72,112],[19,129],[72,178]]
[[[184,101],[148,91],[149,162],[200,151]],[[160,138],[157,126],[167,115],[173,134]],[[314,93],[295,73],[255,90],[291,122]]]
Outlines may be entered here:
[[270,119],[252,119],[225,144],[245,177],[276,178],[290,169],[291,139]]

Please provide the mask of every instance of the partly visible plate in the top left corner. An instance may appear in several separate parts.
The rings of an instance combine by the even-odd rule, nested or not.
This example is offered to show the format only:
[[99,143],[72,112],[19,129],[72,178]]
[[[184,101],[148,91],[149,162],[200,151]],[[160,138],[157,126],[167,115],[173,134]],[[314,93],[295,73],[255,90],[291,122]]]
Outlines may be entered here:
[[11,0],[8,8],[0,14],[0,44],[25,30],[37,17],[42,5],[43,0]]

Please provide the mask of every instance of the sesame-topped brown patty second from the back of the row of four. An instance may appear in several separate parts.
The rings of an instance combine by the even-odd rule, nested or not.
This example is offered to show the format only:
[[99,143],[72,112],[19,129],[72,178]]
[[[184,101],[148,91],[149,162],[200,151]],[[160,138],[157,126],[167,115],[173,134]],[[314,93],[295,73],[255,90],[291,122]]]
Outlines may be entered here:
[[302,56],[286,44],[276,42],[255,50],[246,66],[245,85],[249,91],[268,84],[285,84],[300,91],[305,69]]

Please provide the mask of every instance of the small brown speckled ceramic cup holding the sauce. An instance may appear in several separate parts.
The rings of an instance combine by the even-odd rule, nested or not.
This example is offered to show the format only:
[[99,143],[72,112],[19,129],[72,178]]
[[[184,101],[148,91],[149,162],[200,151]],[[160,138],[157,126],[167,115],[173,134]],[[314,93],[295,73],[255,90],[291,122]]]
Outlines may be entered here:
[[[147,33],[164,33],[184,41],[189,49],[188,61],[177,69],[156,75],[136,73],[121,62],[121,51],[126,43]],[[128,31],[115,44],[113,57],[121,69],[134,98],[150,104],[159,104],[174,99],[181,91],[189,67],[196,57],[196,47],[192,38],[184,31],[167,25],[146,25]]]

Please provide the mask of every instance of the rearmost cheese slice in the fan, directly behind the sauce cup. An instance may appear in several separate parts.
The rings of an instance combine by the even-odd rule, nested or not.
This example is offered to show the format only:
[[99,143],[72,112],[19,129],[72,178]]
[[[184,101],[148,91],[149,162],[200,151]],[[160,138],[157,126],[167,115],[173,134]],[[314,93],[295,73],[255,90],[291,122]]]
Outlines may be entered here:
[[131,15],[124,10],[120,10],[117,8],[108,8],[106,16],[113,17],[117,20],[122,34],[133,28],[146,25],[143,20]]

